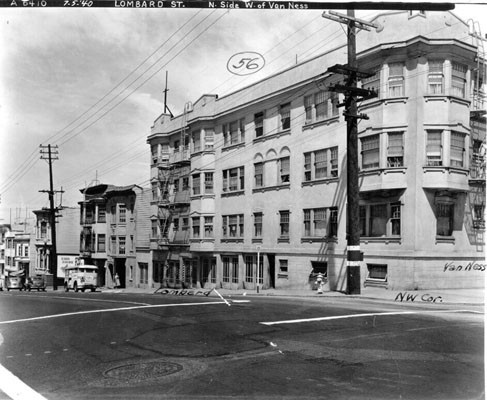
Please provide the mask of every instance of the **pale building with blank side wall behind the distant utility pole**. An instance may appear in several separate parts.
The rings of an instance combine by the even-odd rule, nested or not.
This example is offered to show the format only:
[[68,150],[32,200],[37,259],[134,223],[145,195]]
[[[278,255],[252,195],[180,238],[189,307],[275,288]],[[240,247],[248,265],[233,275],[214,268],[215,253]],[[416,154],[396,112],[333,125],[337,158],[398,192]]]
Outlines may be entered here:
[[[51,212],[48,208],[34,210],[36,222],[31,246],[35,249],[35,258],[30,265],[29,275],[46,275],[48,285],[52,284],[51,271]],[[62,207],[56,212],[56,256],[58,285],[63,284],[64,270],[79,260],[80,210],[78,207]]]

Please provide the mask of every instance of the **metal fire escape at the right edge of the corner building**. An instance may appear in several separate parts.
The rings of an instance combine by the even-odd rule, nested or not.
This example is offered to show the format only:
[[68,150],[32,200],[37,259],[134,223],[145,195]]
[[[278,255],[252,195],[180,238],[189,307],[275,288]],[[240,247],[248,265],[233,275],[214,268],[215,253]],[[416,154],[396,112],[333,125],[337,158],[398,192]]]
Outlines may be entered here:
[[477,22],[472,22],[472,36],[477,40],[477,66],[473,73],[473,98],[470,111],[471,157],[470,191],[468,194],[467,229],[470,241],[483,250],[485,232],[485,161],[486,161],[486,110],[485,110],[485,51],[484,39]]

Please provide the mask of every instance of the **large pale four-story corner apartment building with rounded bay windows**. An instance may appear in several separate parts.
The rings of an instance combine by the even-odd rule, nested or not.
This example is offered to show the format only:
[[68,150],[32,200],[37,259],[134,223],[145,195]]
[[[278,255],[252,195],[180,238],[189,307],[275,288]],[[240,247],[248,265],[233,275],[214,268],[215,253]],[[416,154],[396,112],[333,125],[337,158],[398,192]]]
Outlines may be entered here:
[[[483,287],[485,55],[451,12],[391,12],[360,32],[361,285]],[[160,115],[151,252],[168,287],[346,289],[339,46],[178,117]]]

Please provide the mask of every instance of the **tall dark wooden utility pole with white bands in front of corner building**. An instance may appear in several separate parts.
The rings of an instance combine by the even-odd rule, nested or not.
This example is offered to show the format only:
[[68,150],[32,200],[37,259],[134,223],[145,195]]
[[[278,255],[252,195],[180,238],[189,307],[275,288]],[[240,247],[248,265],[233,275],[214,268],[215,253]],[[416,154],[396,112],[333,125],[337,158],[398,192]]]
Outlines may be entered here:
[[357,79],[371,76],[372,74],[360,71],[357,68],[356,31],[360,29],[370,30],[377,25],[355,18],[354,10],[347,10],[347,15],[333,11],[323,13],[324,18],[347,24],[347,65],[335,65],[327,72],[334,72],[347,76],[346,84],[336,84],[329,87],[330,91],[345,94],[345,120],[347,121],[347,294],[360,294],[360,208],[359,208],[359,184],[358,184],[358,119],[368,119],[364,114],[358,115],[357,96],[360,100],[376,97],[373,90],[357,87]]

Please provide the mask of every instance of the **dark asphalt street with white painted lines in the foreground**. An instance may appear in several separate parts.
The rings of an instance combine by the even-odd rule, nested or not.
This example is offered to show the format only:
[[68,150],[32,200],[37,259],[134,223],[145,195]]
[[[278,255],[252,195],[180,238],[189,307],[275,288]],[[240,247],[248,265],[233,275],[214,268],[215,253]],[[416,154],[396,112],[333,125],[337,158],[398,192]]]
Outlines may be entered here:
[[347,298],[1,292],[0,367],[2,399],[480,399],[484,314]]

